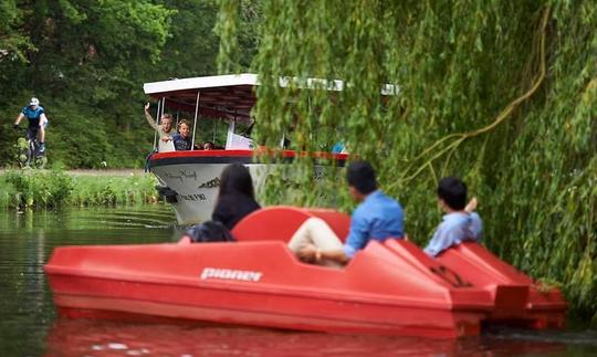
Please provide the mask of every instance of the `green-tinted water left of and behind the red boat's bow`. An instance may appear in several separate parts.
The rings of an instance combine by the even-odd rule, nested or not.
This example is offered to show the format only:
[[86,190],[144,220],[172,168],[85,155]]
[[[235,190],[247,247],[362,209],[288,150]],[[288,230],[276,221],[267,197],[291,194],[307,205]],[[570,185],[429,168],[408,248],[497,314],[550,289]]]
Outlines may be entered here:
[[169,207],[0,212],[0,351],[39,356],[55,319],[43,264],[54,246],[171,241]]

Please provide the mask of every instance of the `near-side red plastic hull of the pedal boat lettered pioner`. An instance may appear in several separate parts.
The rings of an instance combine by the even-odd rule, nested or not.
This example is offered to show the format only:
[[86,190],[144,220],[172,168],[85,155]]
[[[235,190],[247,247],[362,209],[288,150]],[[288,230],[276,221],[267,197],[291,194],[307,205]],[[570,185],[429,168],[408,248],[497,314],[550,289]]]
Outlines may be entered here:
[[[201,279],[206,269],[259,281]],[[69,246],[45,266],[64,314],[148,314],[291,329],[457,337],[479,333],[486,293],[451,287],[376,242],[344,270],[298,262],[277,241]]]

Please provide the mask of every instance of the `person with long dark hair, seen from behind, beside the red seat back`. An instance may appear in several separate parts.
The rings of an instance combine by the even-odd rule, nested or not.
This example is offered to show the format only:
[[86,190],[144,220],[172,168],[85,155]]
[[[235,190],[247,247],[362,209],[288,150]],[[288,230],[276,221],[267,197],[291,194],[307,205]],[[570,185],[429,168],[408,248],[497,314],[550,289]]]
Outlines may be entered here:
[[242,164],[228,165],[220,177],[220,191],[211,219],[232,230],[241,219],[260,208],[247,167]]

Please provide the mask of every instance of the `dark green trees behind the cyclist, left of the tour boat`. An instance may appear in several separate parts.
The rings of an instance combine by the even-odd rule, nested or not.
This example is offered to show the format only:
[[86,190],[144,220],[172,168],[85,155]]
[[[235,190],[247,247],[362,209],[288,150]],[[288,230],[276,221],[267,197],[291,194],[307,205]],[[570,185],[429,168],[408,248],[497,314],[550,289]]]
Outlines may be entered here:
[[11,126],[38,96],[50,167],[143,167],[143,83],[213,73],[216,17],[212,0],[0,1],[0,166],[15,165]]

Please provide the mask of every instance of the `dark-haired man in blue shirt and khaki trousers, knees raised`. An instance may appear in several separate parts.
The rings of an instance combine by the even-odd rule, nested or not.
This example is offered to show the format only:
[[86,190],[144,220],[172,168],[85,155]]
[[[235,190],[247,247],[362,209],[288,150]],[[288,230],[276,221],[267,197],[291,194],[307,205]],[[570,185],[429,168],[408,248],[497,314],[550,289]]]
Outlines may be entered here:
[[350,196],[359,206],[353,212],[346,243],[321,219],[307,219],[294,233],[289,248],[305,262],[338,266],[373,239],[401,238],[404,214],[400,203],[377,187],[375,170],[365,161],[352,162],[346,172]]

